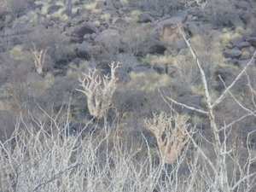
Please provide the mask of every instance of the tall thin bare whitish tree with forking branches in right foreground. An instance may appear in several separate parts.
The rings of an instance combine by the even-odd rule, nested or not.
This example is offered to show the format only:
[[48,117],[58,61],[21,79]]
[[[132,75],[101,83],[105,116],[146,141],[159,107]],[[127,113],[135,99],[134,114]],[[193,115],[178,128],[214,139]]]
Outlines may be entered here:
[[[182,30],[180,30],[182,32]],[[183,33],[183,32],[182,32]],[[217,160],[213,161],[207,158],[207,155],[204,154],[204,152],[201,150],[201,148],[197,145],[197,143],[195,143],[195,141],[192,139],[192,137],[188,136],[192,139],[192,142],[195,145],[195,148],[197,148],[199,150],[199,152],[201,153],[201,155],[204,157],[204,160],[207,161],[208,165],[210,165],[210,167],[212,168],[212,172],[214,173],[214,180],[212,181],[212,186],[211,186],[211,190],[213,189],[213,191],[224,191],[224,192],[230,192],[230,191],[234,191],[237,187],[239,187],[241,185],[241,183],[247,181],[247,190],[246,191],[250,191],[250,189],[252,189],[254,183],[255,183],[255,179],[253,177],[255,177],[256,172],[241,172],[241,177],[236,180],[234,183],[230,183],[230,177],[228,174],[228,163],[227,163],[227,159],[228,157],[230,157],[233,151],[233,148],[227,148],[227,140],[228,140],[228,136],[226,134],[226,131],[228,130],[228,128],[230,128],[232,125],[234,125],[236,122],[238,122],[241,119],[246,118],[249,115],[254,115],[255,116],[255,112],[253,112],[252,110],[244,107],[241,105],[240,102],[238,102],[236,100],[236,97],[232,95],[232,93],[230,92],[231,88],[236,84],[236,82],[241,79],[242,75],[244,75],[246,73],[247,67],[249,67],[255,60],[255,56],[256,56],[256,51],[253,54],[252,59],[247,63],[246,67],[244,67],[241,70],[241,73],[239,73],[236,77],[236,79],[228,86],[226,87],[226,89],[224,90],[224,92],[221,94],[221,96],[218,97],[218,99],[213,102],[212,98],[210,96],[210,91],[208,90],[208,84],[207,84],[207,78],[206,75],[201,67],[201,63],[198,60],[197,55],[195,54],[195,51],[192,49],[192,47],[189,44],[189,41],[185,38],[185,35],[183,33],[183,38],[186,42],[186,44],[189,47],[189,50],[191,52],[191,54],[193,55],[195,62],[196,62],[196,66],[199,68],[199,71],[201,73],[201,82],[204,88],[204,97],[207,101],[207,110],[203,111],[201,109],[197,109],[197,108],[192,108],[189,107],[188,105],[185,105],[181,102],[177,102],[174,99],[172,99],[172,97],[166,97],[169,101],[176,103],[177,105],[182,106],[183,108],[188,108],[190,110],[194,110],[198,113],[204,113],[207,114],[208,118],[210,119],[210,125],[211,125],[211,130],[212,130],[212,135],[213,135],[213,148],[214,148],[214,153],[216,155]],[[236,119],[235,121],[231,122],[229,125],[224,125],[224,127],[218,127],[217,121],[215,119],[215,112],[214,112],[214,108],[221,102],[224,101],[224,98],[227,96],[227,94],[230,94],[230,96],[235,100],[235,102],[237,103],[238,106],[240,106],[243,110],[246,111],[246,114],[241,116],[239,119]],[[224,139],[221,139],[221,134],[224,134]],[[247,140],[247,145],[248,145],[248,140]],[[250,148],[247,148],[248,154],[252,154],[250,151]],[[234,160],[235,163],[237,164],[236,160]],[[250,164],[252,162],[256,161],[255,157],[252,157],[252,155],[248,155],[248,162],[250,162]],[[216,164],[216,165],[215,165]]]

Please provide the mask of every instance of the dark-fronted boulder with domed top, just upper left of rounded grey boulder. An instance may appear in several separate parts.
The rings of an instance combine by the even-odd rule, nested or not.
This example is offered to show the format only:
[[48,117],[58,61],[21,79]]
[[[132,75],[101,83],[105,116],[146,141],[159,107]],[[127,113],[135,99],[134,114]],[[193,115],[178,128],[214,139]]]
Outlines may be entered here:
[[83,23],[81,23],[79,26],[77,26],[74,30],[73,30],[73,36],[79,37],[79,38],[84,38],[84,35],[87,33],[98,33],[99,29],[94,26],[94,24],[84,21]]

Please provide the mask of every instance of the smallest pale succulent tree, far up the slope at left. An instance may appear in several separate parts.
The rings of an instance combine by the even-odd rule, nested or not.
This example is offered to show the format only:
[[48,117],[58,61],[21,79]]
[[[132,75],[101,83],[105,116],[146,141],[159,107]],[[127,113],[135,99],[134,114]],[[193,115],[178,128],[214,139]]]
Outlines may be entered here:
[[37,73],[42,74],[47,49],[38,50],[36,48],[36,45],[33,44],[33,49],[31,49],[31,51],[32,51],[32,54],[33,54],[32,57],[33,57],[33,60],[34,60],[35,67],[37,68]]

